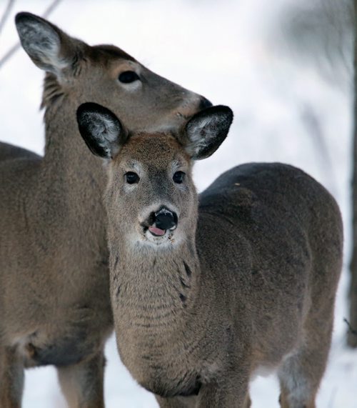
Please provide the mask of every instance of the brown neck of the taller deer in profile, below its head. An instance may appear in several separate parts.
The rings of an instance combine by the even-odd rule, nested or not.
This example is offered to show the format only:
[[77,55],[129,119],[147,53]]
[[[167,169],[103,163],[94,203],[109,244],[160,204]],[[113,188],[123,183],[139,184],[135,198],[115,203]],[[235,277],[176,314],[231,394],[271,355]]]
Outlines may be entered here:
[[69,96],[59,98],[46,107],[45,154],[26,203],[27,213],[46,225],[46,234],[56,237],[56,244],[61,242],[71,259],[95,264],[93,257],[108,255],[102,203],[106,174],[101,159],[91,154],[79,134],[78,104]]

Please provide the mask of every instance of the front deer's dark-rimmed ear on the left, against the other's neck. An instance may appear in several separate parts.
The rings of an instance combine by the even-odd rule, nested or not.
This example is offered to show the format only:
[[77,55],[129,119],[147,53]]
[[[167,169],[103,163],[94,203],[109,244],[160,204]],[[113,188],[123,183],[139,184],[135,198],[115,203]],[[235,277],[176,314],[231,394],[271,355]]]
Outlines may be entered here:
[[116,115],[99,104],[87,102],[77,109],[79,132],[96,156],[113,159],[128,132]]

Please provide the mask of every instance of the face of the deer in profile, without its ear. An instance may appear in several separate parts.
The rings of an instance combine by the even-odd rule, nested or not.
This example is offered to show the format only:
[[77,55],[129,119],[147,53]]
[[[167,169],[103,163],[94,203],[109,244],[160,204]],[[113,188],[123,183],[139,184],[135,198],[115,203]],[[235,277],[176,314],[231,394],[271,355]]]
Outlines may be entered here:
[[92,47],[92,58],[82,62],[84,69],[74,82],[78,104],[108,106],[131,131],[146,132],[176,130],[211,106],[203,96],[155,74],[120,49],[112,47],[113,55],[104,49]]

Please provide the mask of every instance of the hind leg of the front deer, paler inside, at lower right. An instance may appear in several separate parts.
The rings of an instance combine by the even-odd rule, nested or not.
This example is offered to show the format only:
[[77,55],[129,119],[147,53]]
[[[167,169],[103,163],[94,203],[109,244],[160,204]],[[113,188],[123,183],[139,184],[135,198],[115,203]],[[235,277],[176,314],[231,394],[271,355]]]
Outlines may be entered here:
[[333,326],[332,318],[329,319],[328,314],[324,317],[308,319],[301,347],[278,370],[281,408],[316,408],[316,394],[325,372]]

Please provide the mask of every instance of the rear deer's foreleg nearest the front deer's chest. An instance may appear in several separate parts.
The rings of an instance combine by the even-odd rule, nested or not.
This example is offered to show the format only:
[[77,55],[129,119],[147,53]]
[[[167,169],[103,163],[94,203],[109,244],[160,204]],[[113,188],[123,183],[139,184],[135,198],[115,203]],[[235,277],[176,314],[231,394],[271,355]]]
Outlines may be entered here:
[[61,390],[70,408],[104,408],[103,351],[90,360],[57,367]]

